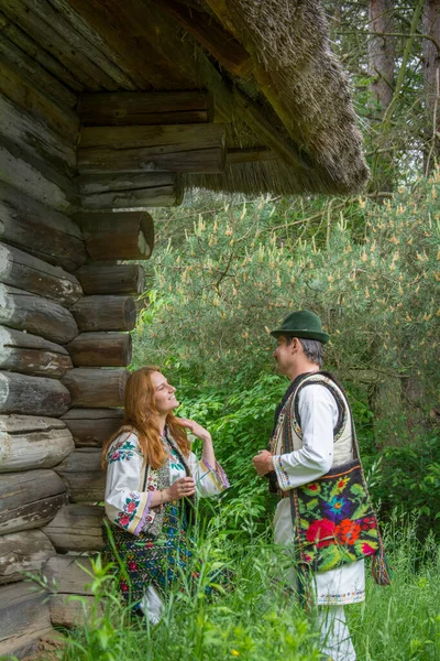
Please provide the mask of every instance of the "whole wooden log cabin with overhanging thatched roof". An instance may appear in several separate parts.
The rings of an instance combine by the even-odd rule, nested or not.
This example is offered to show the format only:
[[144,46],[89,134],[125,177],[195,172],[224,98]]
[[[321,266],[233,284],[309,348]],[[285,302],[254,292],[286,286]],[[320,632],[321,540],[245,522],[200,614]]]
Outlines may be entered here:
[[75,557],[103,546],[154,207],[353,193],[367,169],[317,0],[0,0],[0,655],[21,658],[78,621]]

